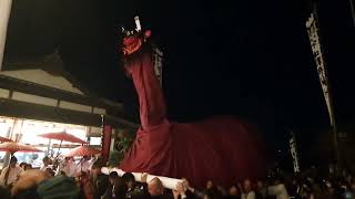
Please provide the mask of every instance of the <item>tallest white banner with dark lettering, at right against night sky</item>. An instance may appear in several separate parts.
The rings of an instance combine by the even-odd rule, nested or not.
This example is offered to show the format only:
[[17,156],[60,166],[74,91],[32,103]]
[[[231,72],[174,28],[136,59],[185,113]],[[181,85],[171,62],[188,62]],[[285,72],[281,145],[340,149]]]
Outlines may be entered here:
[[333,115],[334,113],[333,113],[332,103],[331,103],[328,77],[327,77],[327,72],[325,70],[325,61],[322,54],[316,10],[313,13],[311,13],[311,17],[306,22],[306,27],[307,27],[308,38],[311,41],[312,52],[313,52],[315,64],[317,67],[324,98],[329,113],[331,126],[334,126],[335,125],[334,115]]

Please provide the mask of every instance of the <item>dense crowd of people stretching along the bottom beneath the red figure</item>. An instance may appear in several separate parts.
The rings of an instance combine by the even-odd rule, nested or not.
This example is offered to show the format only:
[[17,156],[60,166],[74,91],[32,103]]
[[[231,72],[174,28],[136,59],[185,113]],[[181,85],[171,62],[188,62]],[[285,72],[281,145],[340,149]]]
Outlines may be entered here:
[[[55,164],[54,164],[55,165]],[[287,175],[281,170],[270,172],[265,179],[235,182],[223,188],[209,180],[204,188],[194,188],[182,179],[174,190],[163,187],[159,178],[148,181],[148,174],[136,181],[125,172],[101,172],[102,159],[83,157],[79,163],[64,158],[53,170],[50,158],[43,158],[41,168],[28,164],[18,165],[12,157],[0,175],[1,199],[128,199],[128,198],[201,198],[201,199],[333,199],[355,198],[355,179],[349,170],[329,166],[325,170],[312,167],[303,172]]]

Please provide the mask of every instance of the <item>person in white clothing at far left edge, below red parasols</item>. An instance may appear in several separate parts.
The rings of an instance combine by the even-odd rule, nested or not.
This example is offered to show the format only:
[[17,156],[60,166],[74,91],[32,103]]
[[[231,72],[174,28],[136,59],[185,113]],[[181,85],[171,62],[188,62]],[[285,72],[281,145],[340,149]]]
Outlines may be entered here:
[[0,186],[11,186],[13,185],[23,169],[17,165],[18,158],[14,156],[10,159],[10,165],[1,171],[0,175]]

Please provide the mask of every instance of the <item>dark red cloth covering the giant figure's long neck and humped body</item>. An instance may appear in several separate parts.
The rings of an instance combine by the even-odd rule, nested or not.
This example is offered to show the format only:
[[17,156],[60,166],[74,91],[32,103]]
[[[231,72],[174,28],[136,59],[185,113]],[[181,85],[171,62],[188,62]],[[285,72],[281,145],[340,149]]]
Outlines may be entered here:
[[121,169],[185,177],[197,187],[209,179],[231,186],[236,180],[265,174],[264,145],[253,126],[233,117],[184,124],[169,122],[151,54],[129,62],[126,70],[139,94],[142,128]]

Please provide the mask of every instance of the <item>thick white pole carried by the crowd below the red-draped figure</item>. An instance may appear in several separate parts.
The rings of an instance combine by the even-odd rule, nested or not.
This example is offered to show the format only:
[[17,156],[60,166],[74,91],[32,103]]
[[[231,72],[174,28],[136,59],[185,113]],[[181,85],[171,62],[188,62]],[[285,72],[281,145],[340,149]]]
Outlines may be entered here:
[[[119,176],[123,176],[124,175],[124,171],[119,169],[119,168],[103,167],[101,169],[101,172],[105,174],[105,175],[109,175],[112,171],[116,171]],[[143,172],[132,172],[132,175],[134,176],[135,181],[142,182],[141,178],[142,178]],[[182,182],[181,179],[169,178],[169,177],[163,177],[163,176],[154,176],[154,175],[148,175],[146,181],[149,182],[154,178],[159,178],[162,181],[164,188],[166,188],[166,189],[176,189],[178,184]]]

